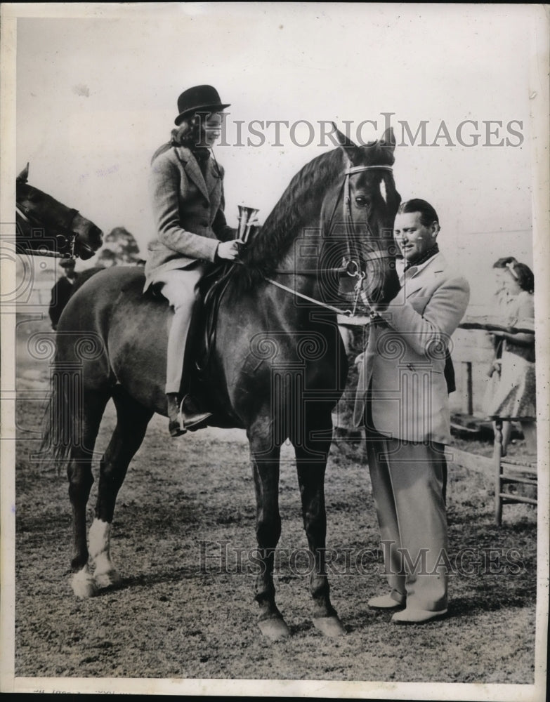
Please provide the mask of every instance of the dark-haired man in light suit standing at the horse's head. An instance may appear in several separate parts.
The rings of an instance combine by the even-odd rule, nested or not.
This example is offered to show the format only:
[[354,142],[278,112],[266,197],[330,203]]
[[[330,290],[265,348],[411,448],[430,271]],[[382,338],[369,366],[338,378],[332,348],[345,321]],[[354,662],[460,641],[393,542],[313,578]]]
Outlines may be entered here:
[[[391,591],[375,609],[400,609],[394,623],[447,613],[444,449],[450,442],[445,358],[466,312],[469,284],[439,253],[436,211],[401,204],[394,236],[402,288],[378,316],[360,362],[355,424],[365,424],[385,574]],[[405,609],[402,609],[405,607]]]

